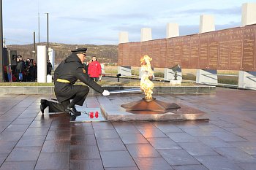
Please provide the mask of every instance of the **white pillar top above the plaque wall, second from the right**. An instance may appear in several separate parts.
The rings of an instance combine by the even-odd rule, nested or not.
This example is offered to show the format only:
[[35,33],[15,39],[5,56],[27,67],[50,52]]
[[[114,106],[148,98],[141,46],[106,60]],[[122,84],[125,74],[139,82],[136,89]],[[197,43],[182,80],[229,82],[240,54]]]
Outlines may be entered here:
[[214,16],[213,15],[200,15],[199,33],[215,31]]

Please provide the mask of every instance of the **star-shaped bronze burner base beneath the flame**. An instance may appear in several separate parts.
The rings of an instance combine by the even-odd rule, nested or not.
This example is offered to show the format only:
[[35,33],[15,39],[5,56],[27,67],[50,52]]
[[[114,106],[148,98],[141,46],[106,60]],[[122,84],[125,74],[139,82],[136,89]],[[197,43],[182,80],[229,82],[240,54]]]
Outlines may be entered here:
[[122,104],[121,107],[126,109],[127,112],[134,114],[164,114],[170,109],[180,109],[175,103],[166,103],[159,101],[156,98],[143,98],[140,101],[133,101],[128,104]]

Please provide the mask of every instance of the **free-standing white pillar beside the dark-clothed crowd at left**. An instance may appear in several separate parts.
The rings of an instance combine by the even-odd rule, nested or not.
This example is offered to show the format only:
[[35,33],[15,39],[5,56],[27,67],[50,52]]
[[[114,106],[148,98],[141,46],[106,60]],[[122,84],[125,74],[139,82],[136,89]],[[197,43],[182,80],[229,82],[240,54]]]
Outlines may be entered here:
[[47,55],[46,46],[37,46],[37,82],[46,82]]

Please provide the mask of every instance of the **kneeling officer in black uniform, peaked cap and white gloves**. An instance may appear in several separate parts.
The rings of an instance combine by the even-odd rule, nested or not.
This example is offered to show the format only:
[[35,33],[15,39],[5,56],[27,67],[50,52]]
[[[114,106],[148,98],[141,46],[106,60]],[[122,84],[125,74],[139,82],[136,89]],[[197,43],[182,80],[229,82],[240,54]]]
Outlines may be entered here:
[[[104,90],[86,74],[83,67],[86,50],[87,48],[72,50],[72,54],[59,64],[54,72],[54,91],[59,103],[41,99],[42,114],[44,114],[45,108],[49,107],[49,112],[68,112],[70,115],[80,115],[81,113],[75,109],[75,104],[83,105],[89,93],[89,87],[102,93],[103,96],[110,95],[108,90]],[[89,87],[74,85],[77,80]],[[70,99],[72,99],[71,102]]]

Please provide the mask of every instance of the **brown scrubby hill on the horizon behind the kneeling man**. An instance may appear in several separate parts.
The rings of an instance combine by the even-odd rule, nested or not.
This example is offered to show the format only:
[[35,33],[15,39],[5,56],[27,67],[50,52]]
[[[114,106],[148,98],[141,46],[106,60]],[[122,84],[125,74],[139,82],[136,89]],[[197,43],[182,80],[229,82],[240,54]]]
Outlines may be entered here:
[[[37,45],[47,45],[47,43],[40,43]],[[37,49],[36,45],[36,49]],[[23,59],[33,58],[33,44],[31,45],[7,45],[7,49],[17,50],[18,55],[22,55]],[[118,59],[118,45],[66,45],[59,43],[49,43],[49,47],[55,50],[55,62],[60,63],[64,58],[70,55],[71,50],[76,48],[88,48],[87,56],[97,56],[100,63],[117,63]]]

